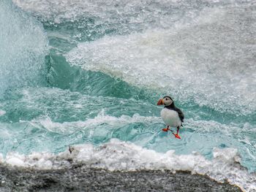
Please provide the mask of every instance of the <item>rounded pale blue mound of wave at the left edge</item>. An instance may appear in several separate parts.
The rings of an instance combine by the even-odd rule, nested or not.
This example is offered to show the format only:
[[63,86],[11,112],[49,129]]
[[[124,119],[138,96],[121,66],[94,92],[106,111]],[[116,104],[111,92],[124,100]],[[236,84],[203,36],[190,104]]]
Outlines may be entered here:
[[0,1],[0,95],[8,88],[37,85],[42,81],[48,40],[37,20]]

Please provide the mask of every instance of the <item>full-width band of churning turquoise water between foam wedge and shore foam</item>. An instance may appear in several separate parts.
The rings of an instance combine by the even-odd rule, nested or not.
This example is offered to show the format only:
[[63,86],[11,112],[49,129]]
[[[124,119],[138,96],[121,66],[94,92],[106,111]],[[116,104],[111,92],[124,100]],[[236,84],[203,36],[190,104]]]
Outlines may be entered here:
[[[241,164],[255,171],[253,123],[219,123],[192,116],[185,120],[182,139],[177,142],[172,134],[161,131],[165,126],[159,117],[161,109],[150,101],[85,96],[59,88],[26,88],[15,95],[20,95],[15,103],[1,103],[5,112],[0,116],[3,154],[59,153],[70,144],[100,145],[118,138],[160,153],[197,151],[206,158],[212,158],[214,147],[233,147],[242,156]],[[17,113],[22,115],[14,118]],[[31,137],[27,138],[28,134]]]

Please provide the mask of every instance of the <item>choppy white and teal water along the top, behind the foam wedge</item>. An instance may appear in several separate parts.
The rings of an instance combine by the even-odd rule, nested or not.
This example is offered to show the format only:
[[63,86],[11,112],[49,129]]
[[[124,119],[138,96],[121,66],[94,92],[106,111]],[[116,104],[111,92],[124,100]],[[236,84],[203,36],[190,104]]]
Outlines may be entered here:
[[41,20],[45,28],[50,29],[48,31],[50,36],[56,39],[61,37],[61,41],[69,39],[69,45],[65,44],[61,50],[72,47],[74,39],[78,42],[93,41],[106,34],[130,34],[148,28],[170,28],[176,22],[191,23],[196,20],[203,7],[239,7],[249,4],[249,1],[243,0],[135,0],[131,2],[77,0],[75,3],[66,0],[13,1],[18,7],[31,12]]

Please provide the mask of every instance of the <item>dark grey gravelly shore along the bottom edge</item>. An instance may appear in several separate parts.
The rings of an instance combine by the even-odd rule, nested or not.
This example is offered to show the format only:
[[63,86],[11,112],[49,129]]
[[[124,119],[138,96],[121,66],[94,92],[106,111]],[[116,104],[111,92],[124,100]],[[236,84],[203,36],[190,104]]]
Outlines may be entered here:
[[86,164],[62,169],[32,169],[0,165],[0,191],[241,191],[229,183],[178,171],[110,172]]

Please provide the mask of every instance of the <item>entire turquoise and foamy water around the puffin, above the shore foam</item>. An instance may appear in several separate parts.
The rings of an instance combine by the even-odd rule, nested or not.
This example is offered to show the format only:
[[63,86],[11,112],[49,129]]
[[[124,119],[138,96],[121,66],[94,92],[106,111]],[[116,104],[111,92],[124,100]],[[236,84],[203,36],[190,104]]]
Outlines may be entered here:
[[[256,171],[253,2],[37,3],[0,2],[0,153],[118,138],[209,159],[233,147]],[[165,95],[181,140],[161,131]]]

